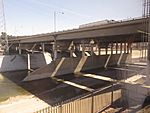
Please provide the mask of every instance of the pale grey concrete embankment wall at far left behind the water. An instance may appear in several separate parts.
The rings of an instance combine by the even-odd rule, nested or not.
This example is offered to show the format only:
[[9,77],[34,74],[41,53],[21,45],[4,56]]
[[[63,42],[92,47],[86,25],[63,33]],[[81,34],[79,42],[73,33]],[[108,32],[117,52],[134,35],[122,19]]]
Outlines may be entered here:
[[0,56],[0,72],[37,69],[52,61],[50,54],[22,54]]

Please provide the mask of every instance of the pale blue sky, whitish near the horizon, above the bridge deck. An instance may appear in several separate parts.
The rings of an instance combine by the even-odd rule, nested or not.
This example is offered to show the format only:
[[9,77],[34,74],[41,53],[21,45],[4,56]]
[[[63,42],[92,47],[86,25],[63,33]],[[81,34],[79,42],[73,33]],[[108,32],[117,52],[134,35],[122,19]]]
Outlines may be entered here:
[[142,16],[142,0],[4,0],[7,32],[30,35],[76,28],[81,24]]

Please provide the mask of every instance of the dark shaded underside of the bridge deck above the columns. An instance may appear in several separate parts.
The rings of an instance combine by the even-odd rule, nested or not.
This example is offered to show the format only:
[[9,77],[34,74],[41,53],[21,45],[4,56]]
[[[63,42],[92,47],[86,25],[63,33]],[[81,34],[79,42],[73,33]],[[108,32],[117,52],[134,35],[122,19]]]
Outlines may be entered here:
[[[144,40],[147,42],[147,40]],[[90,50],[91,45],[95,48],[106,49],[110,48],[113,44],[116,46],[121,46],[125,44],[132,44],[143,42],[142,34],[129,34],[129,35],[118,35],[118,36],[107,36],[107,37],[93,37],[86,39],[76,39],[76,40],[53,40],[48,42],[35,42],[35,43],[12,43],[10,44],[9,53],[10,54],[25,54],[25,53],[35,53],[35,52],[49,52],[51,54],[57,49],[57,52],[61,54],[70,54],[70,51],[82,51],[77,50],[81,46],[86,46]],[[118,45],[117,45],[118,44]],[[116,47],[117,48],[117,47]],[[62,53],[63,52],[63,53]],[[53,55],[52,55],[53,56]]]

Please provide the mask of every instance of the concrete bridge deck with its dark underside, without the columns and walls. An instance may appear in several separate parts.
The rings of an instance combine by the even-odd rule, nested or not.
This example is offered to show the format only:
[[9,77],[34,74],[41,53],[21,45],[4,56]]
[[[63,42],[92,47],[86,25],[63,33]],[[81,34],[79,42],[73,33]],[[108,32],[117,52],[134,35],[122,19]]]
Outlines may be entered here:
[[148,23],[148,19],[114,21],[73,30],[11,37],[9,38],[9,46],[10,51],[13,50],[15,53],[17,48],[16,52],[21,54],[21,50],[56,53],[54,52],[56,49],[68,51],[70,45],[79,48],[83,44],[90,46],[91,43],[101,48],[108,47],[110,43],[125,43],[126,45],[127,43],[143,41],[143,34],[139,31],[146,31],[146,24],[144,23]]

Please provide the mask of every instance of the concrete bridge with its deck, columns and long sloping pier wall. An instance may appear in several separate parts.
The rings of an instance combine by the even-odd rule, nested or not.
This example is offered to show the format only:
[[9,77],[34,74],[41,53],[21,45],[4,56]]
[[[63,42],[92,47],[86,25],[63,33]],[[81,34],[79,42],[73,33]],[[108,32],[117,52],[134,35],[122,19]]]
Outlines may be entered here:
[[30,74],[32,76],[26,77],[26,81],[120,65],[130,61],[132,43],[143,42],[142,32],[147,32],[147,23],[147,18],[138,18],[61,32],[11,37],[8,41],[9,52],[20,55],[50,53],[50,58],[44,57],[49,64],[42,66],[40,63],[39,66],[31,66],[31,62],[36,63],[30,54],[24,59],[26,69],[40,67]]

